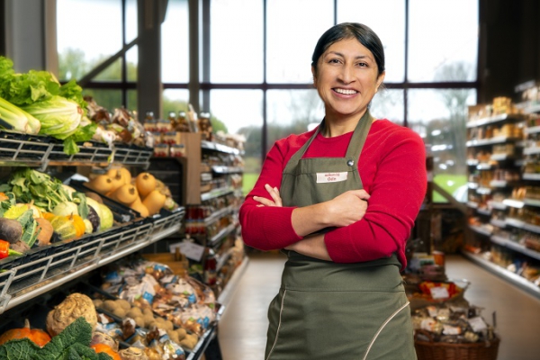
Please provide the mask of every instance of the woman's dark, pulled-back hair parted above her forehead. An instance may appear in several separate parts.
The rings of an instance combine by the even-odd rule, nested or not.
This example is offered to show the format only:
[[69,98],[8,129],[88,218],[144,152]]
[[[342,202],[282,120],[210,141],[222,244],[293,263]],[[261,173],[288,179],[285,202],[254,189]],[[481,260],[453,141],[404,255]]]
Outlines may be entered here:
[[317,45],[313,50],[313,56],[311,57],[311,66],[315,69],[315,74],[317,74],[317,62],[319,61],[320,56],[329,49],[330,45],[334,42],[344,39],[356,39],[369,49],[372,54],[374,54],[375,62],[377,63],[379,71],[377,75],[383,74],[383,43],[371,28],[362,23],[338,23],[338,25],[332,26],[322,34],[319,41],[317,41]]

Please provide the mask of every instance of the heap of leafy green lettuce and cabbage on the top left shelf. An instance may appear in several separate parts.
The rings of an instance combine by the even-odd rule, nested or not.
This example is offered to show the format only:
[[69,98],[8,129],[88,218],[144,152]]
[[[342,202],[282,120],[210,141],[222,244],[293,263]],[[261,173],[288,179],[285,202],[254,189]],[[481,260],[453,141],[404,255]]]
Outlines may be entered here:
[[75,80],[60,85],[49,71],[19,74],[13,66],[0,56],[0,128],[61,139],[64,152],[76,154],[76,143],[92,139],[97,128],[85,116],[82,88]]

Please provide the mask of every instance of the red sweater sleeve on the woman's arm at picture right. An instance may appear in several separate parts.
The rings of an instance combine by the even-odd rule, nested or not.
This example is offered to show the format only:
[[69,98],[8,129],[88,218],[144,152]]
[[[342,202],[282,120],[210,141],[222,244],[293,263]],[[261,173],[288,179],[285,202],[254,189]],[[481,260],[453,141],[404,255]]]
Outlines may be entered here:
[[366,141],[359,163],[370,193],[364,219],[329,231],[325,243],[338,263],[370,261],[397,253],[406,265],[405,244],[426,195],[425,146],[406,128],[390,128],[379,141]]

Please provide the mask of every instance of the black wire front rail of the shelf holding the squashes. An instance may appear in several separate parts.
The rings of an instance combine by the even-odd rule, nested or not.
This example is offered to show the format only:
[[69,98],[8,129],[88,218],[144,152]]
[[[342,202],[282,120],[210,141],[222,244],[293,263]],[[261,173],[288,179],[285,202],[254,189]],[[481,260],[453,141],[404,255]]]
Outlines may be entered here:
[[180,222],[153,232],[153,224],[143,221],[134,227],[120,227],[111,235],[94,238],[0,273],[0,313],[47,293],[98,267],[125,257],[180,230]]

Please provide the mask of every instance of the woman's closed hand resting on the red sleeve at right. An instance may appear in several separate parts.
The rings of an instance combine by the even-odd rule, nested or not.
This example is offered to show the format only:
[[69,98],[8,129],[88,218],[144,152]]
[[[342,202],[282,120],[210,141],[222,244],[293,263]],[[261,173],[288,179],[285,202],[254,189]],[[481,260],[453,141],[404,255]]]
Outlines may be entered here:
[[367,211],[369,193],[349,190],[327,202],[330,226],[343,227],[362,220]]

